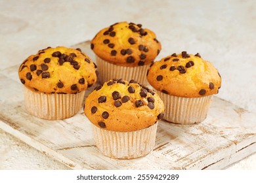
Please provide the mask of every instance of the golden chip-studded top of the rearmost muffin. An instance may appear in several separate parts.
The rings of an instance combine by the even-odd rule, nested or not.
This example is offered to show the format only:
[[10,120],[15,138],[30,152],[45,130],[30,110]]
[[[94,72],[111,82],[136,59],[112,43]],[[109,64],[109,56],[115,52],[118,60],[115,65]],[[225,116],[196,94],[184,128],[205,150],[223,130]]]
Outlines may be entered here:
[[161,44],[155,33],[141,24],[119,22],[100,30],[91,41],[91,49],[105,61],[135,67],[154,61]]

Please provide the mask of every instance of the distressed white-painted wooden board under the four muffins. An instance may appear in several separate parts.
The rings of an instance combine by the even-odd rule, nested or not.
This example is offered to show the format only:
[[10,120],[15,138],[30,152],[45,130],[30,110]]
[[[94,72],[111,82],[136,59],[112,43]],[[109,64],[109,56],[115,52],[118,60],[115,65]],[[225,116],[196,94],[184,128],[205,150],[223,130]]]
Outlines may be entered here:
[[[88,42],[74,48],[94,58]],[[72,118],[56,121],[27,114],[18,67],[0,71],[1,129],[72,169],[222,169],[256,152],[256,114],[213,97],[201,124],[161,121],[156,145],[148,156],[107,158],[96,148],[91,122],[82,109]]]

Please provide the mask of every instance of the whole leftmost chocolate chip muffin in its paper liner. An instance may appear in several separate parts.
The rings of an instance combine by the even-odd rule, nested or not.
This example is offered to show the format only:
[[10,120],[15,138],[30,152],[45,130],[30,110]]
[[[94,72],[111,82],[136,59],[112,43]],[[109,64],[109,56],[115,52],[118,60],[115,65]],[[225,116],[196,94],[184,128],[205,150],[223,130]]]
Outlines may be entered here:
[[39,118],[69,118],[82,107],[85,90],[96,82],[96,65],[79,48],[45,48],[18,70],[26,110]]

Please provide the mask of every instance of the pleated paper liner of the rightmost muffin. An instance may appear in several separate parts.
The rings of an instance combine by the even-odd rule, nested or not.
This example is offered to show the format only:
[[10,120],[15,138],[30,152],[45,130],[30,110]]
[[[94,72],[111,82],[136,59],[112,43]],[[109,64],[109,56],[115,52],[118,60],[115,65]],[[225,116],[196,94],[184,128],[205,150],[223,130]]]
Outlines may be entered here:
[[163,119],[175,124],[197,124],[205,120],[213,95],[176,97],[156,91],[165,104]]

